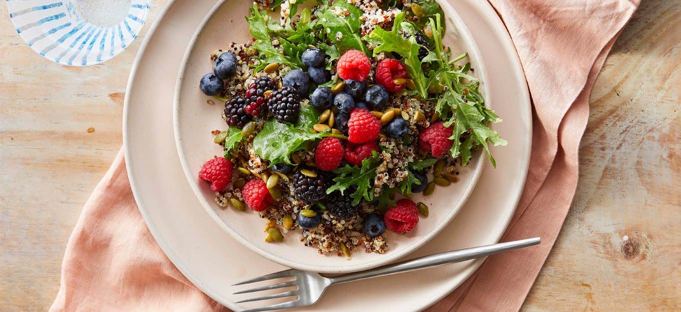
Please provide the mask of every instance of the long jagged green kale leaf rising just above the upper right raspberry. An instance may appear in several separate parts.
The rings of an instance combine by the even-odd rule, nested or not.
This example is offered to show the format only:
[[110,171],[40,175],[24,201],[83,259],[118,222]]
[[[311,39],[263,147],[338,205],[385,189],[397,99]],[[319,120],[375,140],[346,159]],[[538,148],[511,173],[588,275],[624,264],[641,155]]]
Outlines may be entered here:
[[[424,99],[428,98],[428,79],[424,75],[421,68],[421,61],[419,61],[419,44],[416,43],[414,37],[414,24],[412,22],[404,21],[404,13],[395,16],[392,31],[386,31],[378,27],[370,34],[364,36],[364,40],[370,44],[376,44],[374,49],[374,56],[381,51],[395,52],[400,54],[404,59],[407,67],[409,78],[414,80],[416,91]],[[409,33],[409,37],[405,38],[405,33]]]

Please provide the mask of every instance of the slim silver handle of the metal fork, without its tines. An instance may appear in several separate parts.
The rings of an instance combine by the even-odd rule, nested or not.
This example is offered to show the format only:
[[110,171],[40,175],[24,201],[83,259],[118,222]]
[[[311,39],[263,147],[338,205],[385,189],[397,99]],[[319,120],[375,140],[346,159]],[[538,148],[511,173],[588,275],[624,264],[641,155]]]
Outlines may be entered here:
[[433,266],[441,266],[443,264],[450,264],[462,262],[466,260],[482,258],[487,255],[494,255],[494,253],[501,253],[522,247],[537,245],[540,242],[539,237],[527,238],[522,240],[513,240],[507,243],[498,243],[494,245],[486,245],[480,247],[472,247],[466,249],[459,249],[455,251],[447,251],[443,253],[435,253],[434,255],[426,255],[425,257],[415,258],[394,264],[386,264],[371,270],[364,270],[360,272],[352,272],[335,277],[331,279],[331,285],[338,283],[347,283],[349,281],[357,281],[358,279],[370,279],[372,277],[380,277],[383,275],[391,275],[401,272],[409,272],[413,270],[420,270],[422,268],[430,268]]

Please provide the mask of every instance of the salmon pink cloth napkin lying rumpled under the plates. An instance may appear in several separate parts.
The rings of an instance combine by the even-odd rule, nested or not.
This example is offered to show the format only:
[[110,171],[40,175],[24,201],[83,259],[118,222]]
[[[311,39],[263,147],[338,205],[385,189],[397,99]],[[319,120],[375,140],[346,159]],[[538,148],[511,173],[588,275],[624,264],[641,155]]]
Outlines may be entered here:
[[[520,309],[556,240],[577,186],[588,98],[639,0],[490,0],[511,33],[534,104],[525,189],[502,240],[539,247],[490,256],[428,311]],[[69,238],[52,311],[228,311],[166,258],[132,196],[123,153],[85,204]]]

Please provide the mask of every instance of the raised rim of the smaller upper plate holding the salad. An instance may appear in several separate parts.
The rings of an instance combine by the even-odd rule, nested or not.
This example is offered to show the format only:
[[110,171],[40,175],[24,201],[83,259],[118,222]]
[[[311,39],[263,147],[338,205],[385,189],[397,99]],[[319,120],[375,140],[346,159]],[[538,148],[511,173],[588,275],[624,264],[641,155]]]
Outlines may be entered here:
[[[449,225],[449,223],[452,222],[452,220],[458,215],[460,210],[464,207],[468,199],[470,198],[471,194],[473,193],[473,190],[475,189],[479,178],[482,174],[482,171],[484,170],[484,166],[486,165],[486,157],[484,155],[481,155],[481,153],[476,153],[477,157],[475,158],[475,161],[471,161],[471,165],[473,165],[473,174],[471,176],[471,181],[467,183],[466,187],[462,190],[462,196],[460,200],[458,200],[458,203],[453,206],[453,209],[449,211],[446,215],[444,215],[443,221],[440,221],[437,223],[437,225],[432,228],[430,231],[428,231],[427,234],[424,234],[424,236],[415,239],[413,243],[411,243],[409,246],[402,247],[401,249],[394,251],[388,251],[387,253],[381,255],[380,258],[375,259],[375,260],[370,260],[367,262],[358,262],[358,263],[353,263],[353,264],[348,264],[347,266],[335,266],[332,268],[324,267],[324,266],[317,266],[317,265],[311,265],[311,264],[301,264],[299,262],[294,262],[291,260],[287,260],[284,258],[279,258],[279,256],[275,255],[274,253],[270,251],[266,251],[265,249],[257,247],[257,245],[251,243],[248,238],[242,236],[242,234],[236,232],[236,230],[232,229],[212,208],[212,203],[206,199],[206,196],[202,193],[202,190],[200,189],[199,183],[195,181],[194,175],[191,172],[191,166],[189,165],[189,162],[185,158],[185,151],[186,149],[184,148],[183,145],[183,137],[181,136],[182,131],[180,131],[180,95],[181,95],[181,89],[184,84],[191,84],[189,80],[185,78],[185,73],[187,72],[187,66],[189,65],[189,58],[191,57],[193,50],[196,48],[196,42],[199,40],[200,33],[204,30],[206,27],[206,24],[212,19],[212,17],[216,14],[218,10],[220,10],[223,5],[228,5],[229,1],[234,1],[234,0],[219,0],[215,5],[210,9],[208,14],[204,16],[204,19],[200,22],[200,24],[196,27],[191,40],[189,41],[189,44],[187,44],[187,48],[185,48],[185,53],[183,55],[183,59],[180,63],[180,69],[178,70],[178,75],[176,79],[176,84],[175,84],[175,89],[174,89],[174,97],[173,97],[173,131],[174,131],[174,138],[175,138],[175,145],[176,145],[176,150],[178,153],[178,157],[180,158],[180,163],[182,164],[183,171],[185,172],[185,176],[187,177],[187,183],[189,183],[189,186],[191,187],[191,190],[194,192],[195,197],[199,202],[201,202],[201,205],[203,206],[204,210],[210,215],[210,217],[213,219],[213,221],[217,222],[220,228],[222,228],[225,232],[227,232],[230,236],[236,238],[239,243],[242,245],[248,247],[252,251],[255,251],[259,255],[267,258],[268,260],[271,260],[273,262],[276,262],[278,264],[281,264],[283,266],[287,266],[289,268],[297,268],[299,270],[306,270],[306,271],[313,271],[313,272],[321,272],[321,273],[346,273],[346,272],[356,272],[360,270],[368,270],[370,268],[375,268],[377,266],[381,266],[383,264],[388,264],[390,262],[394,262],[400,258],[405,257],[406,255],[409,255],[410,253],[413,253],[413,251],[416,251],[420,247],[423,247],[428,243],[432,238],[440,234],[446,227]],[[446,0],[436,0],[440,2],[439,4],[443,7],[443,11],[445,14],[449,14],[449,17],[452,18],[454,21],[454,27],[456,27],[456,32],[460,34],[461,37],[466,38],[466,42],[468,42],[468,46],[472,49],[472,51],[469,52],[469,55],[473,55],[475,58],[475,61],[477,63],[477,68],[481,68],[479,76],[481,77],[481,80],[486,80],[487,78],[487,71],[486,71],[486,65],[484,60],[480,57],[481,53],[479,52],[479,48],[477,46],[477,42],[475,41],[475,38],[469,31],[468,27],[466,26],[465,22],[462,20],[460,15],[456,12],[456,9],[452,6],[451,3],[447,2]],[[482,85],[484,89],[485,94],[490,94],[489,91],[489,86],[488,84],[483,84]]]

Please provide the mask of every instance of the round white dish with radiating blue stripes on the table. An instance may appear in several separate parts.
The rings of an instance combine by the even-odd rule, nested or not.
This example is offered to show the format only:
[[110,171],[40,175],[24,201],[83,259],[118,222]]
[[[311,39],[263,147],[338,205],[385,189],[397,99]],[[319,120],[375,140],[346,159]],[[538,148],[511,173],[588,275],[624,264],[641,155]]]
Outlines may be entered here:
[[[150,2],[6,1],[16,32],[35,52],[57,63],[74,66],[101,63],[123,52],[140,33]],[[123,10],[115,12],[100,3],[116,3],[118,6],[113,8]]]

